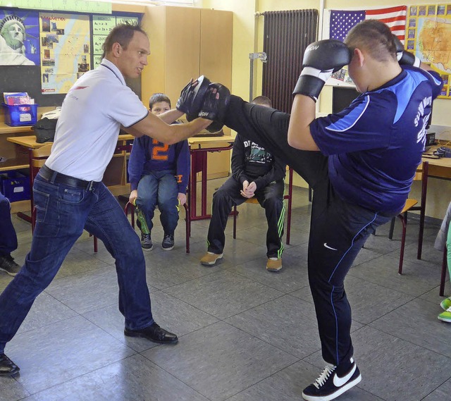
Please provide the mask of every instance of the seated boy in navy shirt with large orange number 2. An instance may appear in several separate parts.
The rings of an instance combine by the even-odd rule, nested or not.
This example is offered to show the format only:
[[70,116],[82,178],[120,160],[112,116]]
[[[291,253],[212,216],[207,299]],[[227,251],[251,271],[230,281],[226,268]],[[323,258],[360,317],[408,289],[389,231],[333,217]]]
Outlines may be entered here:
[[[149,110],[158,116],[171,110],[171,100],[162,93],[150,97]],[[174,247],[174,231],[178,223],[179,205],[186,202],[190,176],[190,147],[187,140],[173,145],[143,136],[135,138],[128,162],[130,202],[137,206],[137,224],[141,230],[141,246],[151,251],[151,232],[158,204],[164,236],[161,247]]]

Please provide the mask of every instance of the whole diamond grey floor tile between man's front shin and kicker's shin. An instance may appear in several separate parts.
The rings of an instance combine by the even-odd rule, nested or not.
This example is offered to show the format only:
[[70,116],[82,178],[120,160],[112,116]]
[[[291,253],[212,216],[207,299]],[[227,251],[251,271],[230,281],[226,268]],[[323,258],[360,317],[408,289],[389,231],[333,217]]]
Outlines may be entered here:
[[164,291],[218,319],[226,319],[283,295],[229,271],[218,271]]

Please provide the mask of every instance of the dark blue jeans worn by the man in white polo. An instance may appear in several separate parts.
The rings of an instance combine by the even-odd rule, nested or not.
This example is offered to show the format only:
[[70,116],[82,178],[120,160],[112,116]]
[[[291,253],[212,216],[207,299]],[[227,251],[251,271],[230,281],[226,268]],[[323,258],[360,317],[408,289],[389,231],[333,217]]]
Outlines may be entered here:
[[44,180],[38,173],[33,199],[37,215],[30,253],[0,295],[0,353],[56,276],[83,228],[104,242],[116,260],[125,327],[140,329],[154,323],[140,238],[105,185],[95,183],[91,190],[70,187]]

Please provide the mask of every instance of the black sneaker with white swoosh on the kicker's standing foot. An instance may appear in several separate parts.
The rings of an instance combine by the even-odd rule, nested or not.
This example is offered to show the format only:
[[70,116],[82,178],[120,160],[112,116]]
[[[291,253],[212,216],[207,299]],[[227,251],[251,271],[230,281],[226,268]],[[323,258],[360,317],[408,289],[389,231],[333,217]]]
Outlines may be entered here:
[[327,364],[319,378],[313,384],[304,388],[302,398],[307,401],[334,400],[362,380],[359,368],[352,358],[351,366],[347,371],[338,374],[341,369],[337,368],[338,366]]

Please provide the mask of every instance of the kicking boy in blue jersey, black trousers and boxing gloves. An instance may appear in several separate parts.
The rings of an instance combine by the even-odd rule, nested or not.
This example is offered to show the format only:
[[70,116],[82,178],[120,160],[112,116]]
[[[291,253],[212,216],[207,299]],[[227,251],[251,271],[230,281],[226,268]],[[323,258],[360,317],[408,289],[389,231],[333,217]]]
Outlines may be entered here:
[[[443,86],[438,73],[399,44],[377,20],[357,24],[345,43],[310,44],[291,116],[248,104],[220,84],[200,82],[196,90],[192,83],[199,115],[246,132],[314,190],[309,284],[327,366],[304,389],[304,400],[333,400],[362,379],[352,358],[345,276],[366,238],[402,210],[421,162],[431,104]],[[315,118],[324,83],[347,64],[362,94],[340,113]]]

